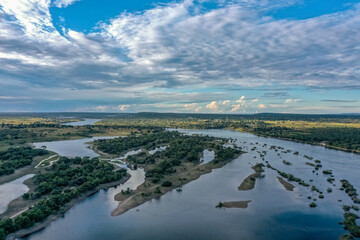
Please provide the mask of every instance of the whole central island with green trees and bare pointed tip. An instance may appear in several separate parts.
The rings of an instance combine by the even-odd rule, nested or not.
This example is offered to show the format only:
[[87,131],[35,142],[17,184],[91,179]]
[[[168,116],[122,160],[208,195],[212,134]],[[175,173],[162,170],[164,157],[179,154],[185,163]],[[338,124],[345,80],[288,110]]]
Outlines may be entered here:
[[[184,135],[175,131],[154,129],[133,133],[126,138],[98,140],[96,149],[104,153],[121,155],[126,151],[141,148],[144,151],[129,156],[126,162],[133,168],[144,168],[145,182],[128,194],[115,196],[120,201],[112,215],[120,215],[142,203],[162,196],[172,189],[222,167],[240,153],[237,147],[225,147],[227,139],[199,135]],[[167,146],[163,151],[150,154],[149,150]],[[213,150],[215,158],[209,163],[200,159],[204,150]]]

